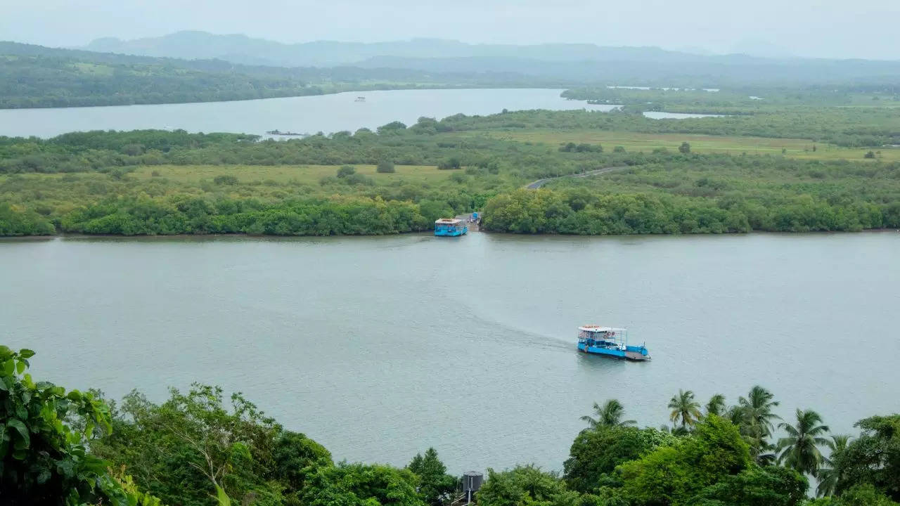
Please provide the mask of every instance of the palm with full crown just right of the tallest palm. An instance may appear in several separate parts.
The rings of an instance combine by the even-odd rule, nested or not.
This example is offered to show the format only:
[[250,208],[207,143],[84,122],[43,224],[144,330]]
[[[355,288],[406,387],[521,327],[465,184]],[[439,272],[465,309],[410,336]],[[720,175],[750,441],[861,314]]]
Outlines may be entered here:
[[819,474],[823,456],[819,445],[827,445],[823,438],[828,426],[822,425],[822,417],[813,410],[797,409],[797,425],[779,423],[780,429],[788,432],[787,438],[779,439],[779,463],[811,476]]

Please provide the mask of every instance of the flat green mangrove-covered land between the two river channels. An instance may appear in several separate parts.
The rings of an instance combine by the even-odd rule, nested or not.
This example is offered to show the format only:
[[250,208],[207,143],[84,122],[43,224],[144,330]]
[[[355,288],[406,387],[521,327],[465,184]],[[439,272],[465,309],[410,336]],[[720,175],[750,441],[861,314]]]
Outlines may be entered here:
[[[784,157],[644,152],[559,151],[540,143],[462,134],[502,130],[517,113],[441,122],[422,128],[361,130],[273,141],[239,134],[184,131],[75,132],[54,139],[0,138],[0,234],[84,233],[394,233],[427,230],[441,215],[482,211],[488,230],[516,233],[725,233],[750,230],[864,230],[900,227],[900,163],[798,160]],[[615,115],[608,129],[620,121]],[[531,124],[581,128],[594,116],[531,112]],[[588,122],[588,124],[592,124]],[[417,123],[418,125],[419,123]],[[598,128],[599,128],[598,127]],[[588,145],[592,146],[592,145]],[[346,174],[320,185],[284,177],[264,183],[224,170],[211,180],[184,181],[194,165],[340,166],[392,160],[400,166],[465,167],[465,174],[428,178]],[[165,164],[184,173],[147,177]],[[577,175],[601,167],[608,174],[569,177],[551,193],[518,193],[536,179]],[[59,176],[42,176],[60,173]],[[168,172],[168,171],[167,171]],[[85,174],[74,174],[85,173]],[[103,174],[107,176],[102,176]],[[215,174],[215,173],[213,173]],[[334,174],[334,173],[332,173]],[[409,178],[408,178],[409,177]],[[112,197],[115,198],[112,198]],[[423,219],[366,222],[380,197],[401,214]],[[491,203],[488,203],[488,201]],[[392,202],[397,201],[397,202]],[[6,207],[5,204],[9,207]],[[352,205],[351,205],[352,204]],[[419,204],[419,211],[415,209]],[[347,211],[346,206],[360,209]],[[373,209],[375,208],[375,209]],[[426,210],[426,208],[428,208]],[[410,211],[411,210],[411,211]],[[440,211],[440,213],[438,213]],[[447,212],[450,211],[450,212]],[[322,214],[328,214],[323,218]],[[323,223],[325,221],[326,223]],[[367,221],[363,219],[362,221]]]

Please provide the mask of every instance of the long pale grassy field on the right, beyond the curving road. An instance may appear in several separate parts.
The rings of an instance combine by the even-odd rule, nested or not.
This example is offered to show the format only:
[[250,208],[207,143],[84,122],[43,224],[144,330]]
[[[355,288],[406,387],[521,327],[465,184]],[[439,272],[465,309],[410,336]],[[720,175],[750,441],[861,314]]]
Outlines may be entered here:
[[[763,137],[724,137],[715,135],[692,135],[685,133],[636,133],[631,131],[600,130],[529,130],[529,131],[467,131],[463,136],[485,135],[501,140],[516,140],[536,144],[558,146],[567,142],[576,144],[601,144],[611,150],[622,146],[628,151],[653,151],[657,148],[678,149],[681,142],[688,141],[690,149],[698,153],[729,153],[740,155],[780,155],[805,159],[850,159],[862,160],[870,149],[841,148],[830,144],[815,144],[804,139],[771,139]],[[815,151],[813,147],[815,145]],[[886,161],[900,160],[900,149],[880,149],[880,158]]]

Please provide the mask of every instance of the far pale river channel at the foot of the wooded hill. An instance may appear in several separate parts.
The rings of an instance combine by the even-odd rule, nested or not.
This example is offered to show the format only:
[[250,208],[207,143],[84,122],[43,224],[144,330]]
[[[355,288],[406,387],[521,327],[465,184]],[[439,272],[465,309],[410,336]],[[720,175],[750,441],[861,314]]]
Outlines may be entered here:
[[[53,137],[67,131],[184,129],[266,135],[266,131],[326,133],[374,129],[421,116],[442,119],[456,113],[494,114],[503,109],[587,109],[617,105],[566,100],[562,89],[428,89],[348,92],[335,95],[266,98],[237,102],[121,105],[0,110],[0,136]],[[365,96],[365,102],[356,102]]]

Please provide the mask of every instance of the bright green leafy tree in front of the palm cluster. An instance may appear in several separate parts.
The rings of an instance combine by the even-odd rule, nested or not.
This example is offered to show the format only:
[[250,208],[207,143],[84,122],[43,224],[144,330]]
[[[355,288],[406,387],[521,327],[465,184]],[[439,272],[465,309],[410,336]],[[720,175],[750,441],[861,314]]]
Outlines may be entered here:
[[698,423],[675,446],[658,447],[638,460],[619,465],[623,496],[637,505],[690,504],[690,499],[726,476],[751,465],[740,432],[716,415]]

